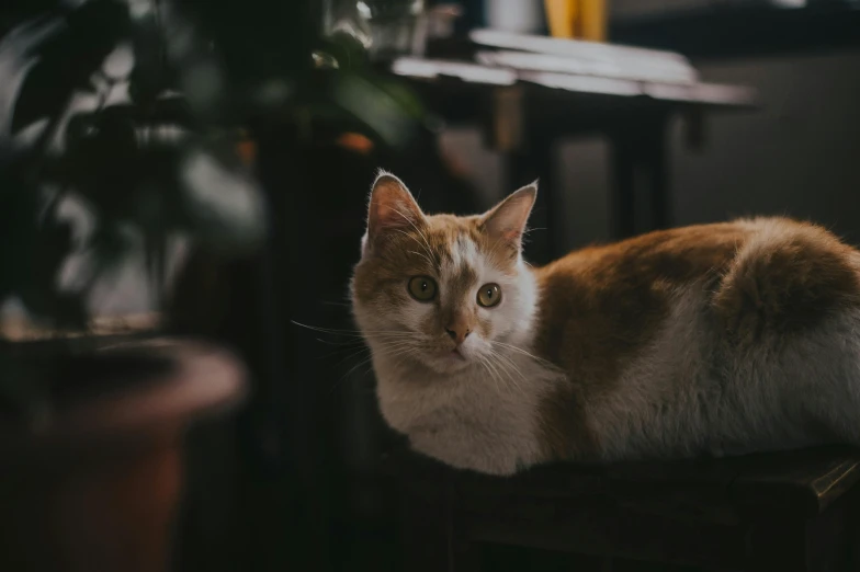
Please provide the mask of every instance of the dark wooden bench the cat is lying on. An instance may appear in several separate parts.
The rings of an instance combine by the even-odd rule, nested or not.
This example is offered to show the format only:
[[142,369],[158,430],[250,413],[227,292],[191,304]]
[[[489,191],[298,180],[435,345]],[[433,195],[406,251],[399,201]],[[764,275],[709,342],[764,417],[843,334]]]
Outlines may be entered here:
[[391,459],[404,570],[860,570],[860,451],[556,466],[511,479]]

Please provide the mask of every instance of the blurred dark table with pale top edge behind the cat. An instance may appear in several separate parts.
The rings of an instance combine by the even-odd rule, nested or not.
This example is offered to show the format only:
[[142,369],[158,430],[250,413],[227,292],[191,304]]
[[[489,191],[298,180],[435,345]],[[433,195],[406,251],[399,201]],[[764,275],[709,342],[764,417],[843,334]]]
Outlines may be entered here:
[[[531,261],[562,251],[564,216],[555,146],[564,138],[604,134],[611,145],[612,236],[625,238],[674,222],[667,127],[678,115],[690,119],[689,140],[700,145],[704,115],[751,108],[746,88],[694,82],[655,83],[620,77],[514,71],[460,60],[401,58],[392,71],[411,80],[427,106],[452,125],[480,125],[503,152],[510,191],[541,180],[532,227]],[[642,196],[645,201],[637,201]],[[647,203],[642,216],[637,202]]]

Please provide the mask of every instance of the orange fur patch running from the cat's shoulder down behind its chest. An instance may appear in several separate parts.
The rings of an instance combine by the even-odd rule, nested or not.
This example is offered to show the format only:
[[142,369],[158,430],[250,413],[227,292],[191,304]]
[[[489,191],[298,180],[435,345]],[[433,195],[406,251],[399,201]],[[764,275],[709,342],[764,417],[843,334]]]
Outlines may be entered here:
[[724,271],[748,231],[733,224],[653,232],[588,248],[538,270],[536,351],[568,374],[541,405],[547,458],[590,458],[585,396],[616,389],[621,373],[669,313],[670,289]]

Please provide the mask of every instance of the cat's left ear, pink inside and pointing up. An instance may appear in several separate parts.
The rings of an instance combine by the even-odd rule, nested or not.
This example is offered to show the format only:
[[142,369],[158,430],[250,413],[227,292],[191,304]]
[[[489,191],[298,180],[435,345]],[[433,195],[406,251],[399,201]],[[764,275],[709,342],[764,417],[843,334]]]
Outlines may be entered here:
[[420,227],[425,215],[403,181],[381,171],[373,182],[367,211],[367,245],[392,232]]

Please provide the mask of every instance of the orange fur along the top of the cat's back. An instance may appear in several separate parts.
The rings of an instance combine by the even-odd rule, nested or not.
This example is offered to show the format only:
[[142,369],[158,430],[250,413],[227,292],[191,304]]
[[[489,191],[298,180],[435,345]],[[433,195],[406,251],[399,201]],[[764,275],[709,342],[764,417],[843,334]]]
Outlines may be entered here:
[[[536,271],[538,348],[553,362],[606,364],[646,343],[679,293],[702,291],[728,330],[750,316],[800,323],[856,302],[858,252],[815,225],[757,218],[661,230],[570,254]],[[620,359],[619,359],[620,358]],[[603,377],[603,376],[601,376]]]

